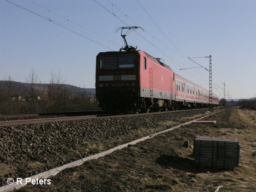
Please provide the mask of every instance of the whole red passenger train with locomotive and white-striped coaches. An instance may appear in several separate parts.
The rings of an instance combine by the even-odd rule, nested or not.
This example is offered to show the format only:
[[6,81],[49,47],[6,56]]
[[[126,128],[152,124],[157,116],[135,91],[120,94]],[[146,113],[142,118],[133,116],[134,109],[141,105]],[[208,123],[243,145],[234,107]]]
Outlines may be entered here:
[[[96,57],[95,96],[104,111],[148,113],[209,107],[209,91],[178,75],[159,58],[128,48],[100,52]],[[219,105],[215,94],[211,105]]]

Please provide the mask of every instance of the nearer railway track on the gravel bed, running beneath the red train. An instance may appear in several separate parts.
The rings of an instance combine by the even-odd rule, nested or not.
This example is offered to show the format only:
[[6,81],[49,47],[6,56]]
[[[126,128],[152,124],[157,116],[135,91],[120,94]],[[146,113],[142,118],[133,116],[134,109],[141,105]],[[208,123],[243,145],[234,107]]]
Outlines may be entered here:
[[[205,109],[205,108],[204,108]],[[152,112],[152,113],[141,113],[141,114],[126,114],[126,115],[88,115],[88,116],[72,116],[72,117],[57,117],[57,118],[44,118],[44,119],[29,119],[29,120],[17,120],[17,121],[2,121],[0,122],[0,127],[4,126],[15,126],[15,125],[26,125],[26,124],[40,124],[40,123],[51,123],[51,122],[60,122],[60,121],[75,121],[83,119],[100,119],[100,118],[110,118],[110,117],[129,117],[129,116],[146,116],[162,113],[177,113],[182,111],[193,111],[193,110],[202,110],[202,109],[187,109],[187,110],[178,110],[178,111],[164,111],[164,112]]]

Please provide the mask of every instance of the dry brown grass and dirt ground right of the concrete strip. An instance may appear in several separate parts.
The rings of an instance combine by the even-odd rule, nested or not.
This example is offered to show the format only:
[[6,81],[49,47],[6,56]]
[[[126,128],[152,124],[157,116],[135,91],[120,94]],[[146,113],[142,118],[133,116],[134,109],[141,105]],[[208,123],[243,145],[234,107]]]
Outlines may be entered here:
[[[16,191],[194,192],[214,191],[220,185],[223,186],[220,192],[256,191],[255,115],[254,111],[228,109],[204,119],[216,120],[216,124],[182,126],[99,159],[66,169],[49,178],[51,185],[29,184]],[[174,124],[176,123],[167,122],[162,126],[170,128]],[[239,140],[239,167],[234,170],[196,167],[192,146],[184,147],[186,140],[193,145],[196,135]],[[95,146],[88,144],[84,148],[105,146],[104,141],[94,144]]]

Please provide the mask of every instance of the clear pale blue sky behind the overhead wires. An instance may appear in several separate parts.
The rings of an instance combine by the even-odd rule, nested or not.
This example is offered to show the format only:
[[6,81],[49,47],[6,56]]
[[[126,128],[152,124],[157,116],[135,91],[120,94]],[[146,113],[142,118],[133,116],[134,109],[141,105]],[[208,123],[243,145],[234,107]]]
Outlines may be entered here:
[[[107,47],[118,51],[124,46],[120,31],[115,31],[126,23],[142,27],[145,31],[137,32],[147,39],[133,32],[127,36],[128,44],[162,58],[179,75],[209,89],[208,71],[179,69],[198,67],[187,57],[212,55],[214,93],[223,97],[218,86],[223,88],[221,83],[225,82],[226,93],[229,91],[234,99],[256,96],[255,0],[138,0],[164,34],[137,0],[96,0],[110,12],[94,0],[33,0],[37,4],[30,0],[10,1],[106,47],[0,0],[1,80],[10,75],[15,81],[26,82],[33,67],[42,83],[49,83],[51,71],[60,70],[68,84],[93,88],[96,55],[111,51]],[[209,68],[208,58],[195,61]]]

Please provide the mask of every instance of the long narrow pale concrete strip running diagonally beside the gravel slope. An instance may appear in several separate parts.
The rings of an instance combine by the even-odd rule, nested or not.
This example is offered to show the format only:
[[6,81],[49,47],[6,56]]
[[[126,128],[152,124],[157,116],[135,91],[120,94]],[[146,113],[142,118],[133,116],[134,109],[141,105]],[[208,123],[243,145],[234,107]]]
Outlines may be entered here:
[[[225,110],[225,109],[223,109],[223,110]],[[217,112],[215,112],[215,113],[219,113],[219,112],[221,112],[221,111],[223,111],[223,110],[217,111]],[[207,116],[211,116],[211,115],[213,115],[213,114],[215,114],[215,113],[212,113],[212,114],[207,115]],[[203,119],[203,118],[205,118],[205,117],[207,117],[207,116],[203,116],[203,117],[198,118],[198,119],[196,119],[196,120],[192,120],[192,121],[189,121],[189,122],[187,122],[187,123],[180,124],[180,125],[178,125],[178,126],[175,126],[175,127],[172,127],[172,128],[169,128],[169,129],[166,129],[166,130],[163,130],[163,131],[160,131],[160,132],[151,134],[151,135],[148,135],[148,136],[146,136],[146,137],[140,138],[140,139],[138,139],[138,140],[131,141],[131,142],[126,143],[126,144],[123,144],[123,145],[119,145],[119,146],[117,146],[117,147],[111,148],[111,149],[106,150],[106,151],[103,151],[103,152],[101,152],[101,153],[98,153],[98,154],[95,154],[95,155],[92,155],[92,156],[88,156],[88,157],[85,157],[85,158],[76,160],[76,161],[74,161],[74,162],[71,162],[71,163],[62,165],[62,166],[60,166],[60,167],[51,169],[51,170],[49,170],[49,171],[41,172],[41,173],[39,173],[39,174],[36,174],[36,175],[33,175],[33,176],[29,177],[29,179],[30,179],[30,181],[31,181],[31,180],[36,180],[36,179],[38,179],[38,180],[39,180],[39,179],[46,179],[46,178],[48,178],[48,177],[50,177],[50,176],[54,176],[54,175],[58,174],[59,172],[61,172],[62,170],[66,169],[66,168],[71,168],[71,167],[74,167],[74,166],[81,165],[81,164],[83,164],[83,163],[86,162],[86,161],[90,161],[90,160],[92,160],[92,159],[97,159],[97,158],[99,158],[99,157],[102,157],[102,156],[105,156],[105,155],[107,155],[107,154],[110,154],[110,153],[112,153],[112,152],[114,152],[114,151],[116,151],[116,150],[125,148],[125,147],[127,147],[128,145],[134,145],[134,144],[136,144],[136,143],[138,143],[138,142],[140,142],[140,141],[144,141],[144,140],[150,139],[150,138],[152,138],[152,137],[154,137],[154,136],[156,136],[156,135],[162,134],[162,133],[164,133],[164,132],[172,131],[172,130],[174,130],[174,129],[176,129],[176,128],[179,128],[179,127],[181,127],[181,126],[183,126],[183,125],[187,125],[187,124],[190,124],[190,123],[194,123],[194,122],[196,122],[196,121],[198,121],[198,120],[200,120],[200,119]],[[29,180],[29,179],[27,178],[27,180]],[[24,180],[23,180],[23,182],[24,182]],[[28,183],[30,183],[30,182],[28,182]],[[13,189],[18,189],[18,188],[24,187],[25,185],[26,185],[26,184],[21,184],[20,182],[19,182],[19,183],[14,182],[13,184],[5,185],[5,186],[3,186],[3,187],[0,187],[0,192],[2,192],[2,191],[5,192],[5,191],[13,190]]]

